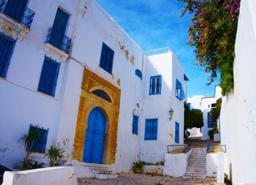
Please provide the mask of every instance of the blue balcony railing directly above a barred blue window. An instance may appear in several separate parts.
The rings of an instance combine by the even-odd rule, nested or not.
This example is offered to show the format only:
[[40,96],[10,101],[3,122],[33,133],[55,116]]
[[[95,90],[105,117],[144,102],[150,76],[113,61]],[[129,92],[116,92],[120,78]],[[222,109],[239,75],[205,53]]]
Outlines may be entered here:
[[59,31],[53,31],[53,28],[48,30],[46,42],[63,50],[65,53],[69,53],[71,39],[64,34],[59,34]]

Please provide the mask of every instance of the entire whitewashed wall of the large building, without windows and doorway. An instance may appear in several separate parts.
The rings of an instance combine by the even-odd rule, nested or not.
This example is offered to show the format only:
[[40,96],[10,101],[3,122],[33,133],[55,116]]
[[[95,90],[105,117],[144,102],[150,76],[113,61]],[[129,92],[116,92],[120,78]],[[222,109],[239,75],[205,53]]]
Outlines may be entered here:
[[[72,39],[72,48],[67,61],[61,61],[58,53],[48,53],[61,62],[56,97],[53,98],[39,93],[37,86],[47,53],[45,39],[58,7],[70,14],[66,35]],[[48,128],[47,147],[61,144],[66,150],[67,162],[72,163],[84,67],[115,86],[118,86],[118,80],[121,81],[121,86],[118,86],[121,88],[121,103],[115,164],[117,172],[129,171],[132,162],[140,157],[148,162],[164,159],[167,143],[174,143],[175,121],[180,123],[180,143],[183,143],[183,101],[176,99],[172,86],[175,87],[176,78],[184,86],[184,71],[173,53],[157,56],[160,62],[155,63],[157,67],[153,66],[138,44],[92,0],[30,1],[29,8],[36,13],[31,31],[23,42],[18,41],[15,45],[7,78],[0,78],[0,149],[7,148],[4,153],[0,151],[1,165],[12,168],[14,163],[23,160],[25,149],[23,143],[17,141],[28,132],[29,124]],[[102,42],[115,51],[113,75],[99,67]],[[123,46],[129,51],[128,59]],[[130,60],[132,56],[134,64]],[[169,67],[166,68],[165,64]],[[142,71],[143,80],[135,75],[135,69]],[[149,77],[159,74],[163,75],[163,96],[148,97]],[[152,107],[161,108],[154,111]],[[170,107],[175,111],[172,121],[169,121]],[[140,116],[138,135],[132,135],[132,113]],[[145,118],[152,116],[159,118],[157,142],[144,141]]]

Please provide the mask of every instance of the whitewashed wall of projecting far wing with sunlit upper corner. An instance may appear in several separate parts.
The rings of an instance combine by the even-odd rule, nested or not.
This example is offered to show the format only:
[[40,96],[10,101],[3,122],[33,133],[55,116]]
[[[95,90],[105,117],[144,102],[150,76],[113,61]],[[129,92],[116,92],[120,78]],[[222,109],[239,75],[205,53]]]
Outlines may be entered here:
[[[141,135],[140,158],[146,162],[160,162],[165,159],[167,145],[175,144],[175,121],[179,125],[179,143],[183,144],[184,100],[176,98],[176,78],[184,88],[184,69],[172,52],[148,57],[145,80],[145,118],[158,118],[157,140],[144,140],[145,121]],[[150,77],[162,75],[161,94],[149,95]],[[169,110],[173,108],[173,118],[169,120]]]

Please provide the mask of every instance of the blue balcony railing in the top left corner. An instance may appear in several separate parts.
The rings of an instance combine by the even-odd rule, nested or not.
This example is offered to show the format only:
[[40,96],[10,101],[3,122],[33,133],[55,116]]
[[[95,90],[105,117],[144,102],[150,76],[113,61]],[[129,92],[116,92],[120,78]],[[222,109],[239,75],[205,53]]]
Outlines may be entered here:
[[34,18],[34,12],[28,7],[23,7],[18,1],[0,0],[0,12],[8,15],[10,18],[23,23],[26,27],[30,29]]

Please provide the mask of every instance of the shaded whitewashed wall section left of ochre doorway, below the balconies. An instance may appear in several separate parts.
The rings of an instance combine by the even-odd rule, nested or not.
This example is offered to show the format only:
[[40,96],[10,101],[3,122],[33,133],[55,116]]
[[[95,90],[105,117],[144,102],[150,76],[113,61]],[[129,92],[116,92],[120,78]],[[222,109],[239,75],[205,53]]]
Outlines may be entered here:
[[29,124],[49,129],[47,147],[56,143],[67,62],[52,56],[61,62],[54,98],[38,92],[37,86],[46,54],[46,36],[59,6],[74,15],[70,17],[67,29],[67,36],[72,37],[77,2],[29,1],[28,7],[36,12],[31,31],[23,42],[17,41],[7,78],[0,78],[0,149],[7,148],[4,153],[0,152],[1,165],[12,168],[23,160],[25,148],[18,140],[29,131]]

